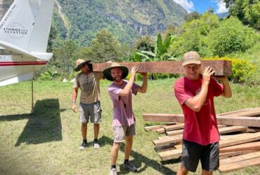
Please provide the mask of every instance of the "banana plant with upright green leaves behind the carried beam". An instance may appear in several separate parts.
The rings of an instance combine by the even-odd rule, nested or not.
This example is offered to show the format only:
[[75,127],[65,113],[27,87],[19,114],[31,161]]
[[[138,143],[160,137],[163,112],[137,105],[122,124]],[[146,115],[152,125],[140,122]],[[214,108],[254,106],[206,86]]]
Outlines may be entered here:
[[164,43],[162,41],[162,35],[158,34],[154,52],[138,50],[137,52],[134,52],[134,62],[157,62],[174,59],[171,55],[167,54],[167,50],[175,37],[176,36],[174,35],[169,36]]

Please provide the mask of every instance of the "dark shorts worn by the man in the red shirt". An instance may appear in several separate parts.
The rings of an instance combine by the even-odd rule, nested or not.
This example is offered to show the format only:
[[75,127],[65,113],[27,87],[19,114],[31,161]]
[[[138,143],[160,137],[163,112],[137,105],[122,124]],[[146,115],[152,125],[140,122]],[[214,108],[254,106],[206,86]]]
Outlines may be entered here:
[[196,172],[199,161],[202,169],[214,172],[219,168],[219,142],[202,146],[183,139],[181,164],[190,172]]

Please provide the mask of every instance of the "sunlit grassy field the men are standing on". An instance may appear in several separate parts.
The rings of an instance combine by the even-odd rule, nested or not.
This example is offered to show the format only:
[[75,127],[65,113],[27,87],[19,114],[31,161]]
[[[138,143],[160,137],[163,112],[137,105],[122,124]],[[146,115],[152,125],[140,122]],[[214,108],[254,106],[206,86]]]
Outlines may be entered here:
[[[153,149],[156,132],[144,127],[157,123],[143,122],[143,113],[181,113],[173,94],[174,79],[148,82],[148,92],[134,97],[137,135],[134,138],[131,160],[138,174],[176,174],[180,159],[161,162]],[[100,146],[94,150],[93,125],[89,124],[89,147],[79,151],[82,142],[78,113],[72,112],[72,83],[56,81],[34,82],[34,113],[31,111],[31,84],[18,83],[0,87],[0,174],[108,174],[112,147],[112,102],[103,80],[100,125]],[[140,84],[140,83],[139,83]],[[233,97],[215,100],[217,113],[260,106],[260,87],[231,84]],[[117,160],[120,174],[123,147]],[[196,174],[200,174],[198,167]],[[216,172],[216,174],[220,174]],[[230,174],[260,174],[259,167],[248,167]]]

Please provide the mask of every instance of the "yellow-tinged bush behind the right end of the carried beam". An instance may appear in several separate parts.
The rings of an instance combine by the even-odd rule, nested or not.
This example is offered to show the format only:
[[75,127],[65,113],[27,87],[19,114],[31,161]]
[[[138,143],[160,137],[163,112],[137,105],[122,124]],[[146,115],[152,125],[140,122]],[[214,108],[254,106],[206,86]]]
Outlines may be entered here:
[[233,83],[247,83],[254,85],[256,65],[250,64],[247,59],[235,59],[229,57],[210,57],[204,60],[228,60],[232,62],[232,75],[228,77]]

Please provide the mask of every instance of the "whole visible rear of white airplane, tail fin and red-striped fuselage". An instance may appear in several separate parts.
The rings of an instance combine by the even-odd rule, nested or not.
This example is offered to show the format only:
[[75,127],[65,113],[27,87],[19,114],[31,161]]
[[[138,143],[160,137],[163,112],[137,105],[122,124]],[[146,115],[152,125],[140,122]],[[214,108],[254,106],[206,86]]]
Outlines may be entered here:
[[15,0],[0,22],[0,86],[32,80],[46,52],[54,0]]

